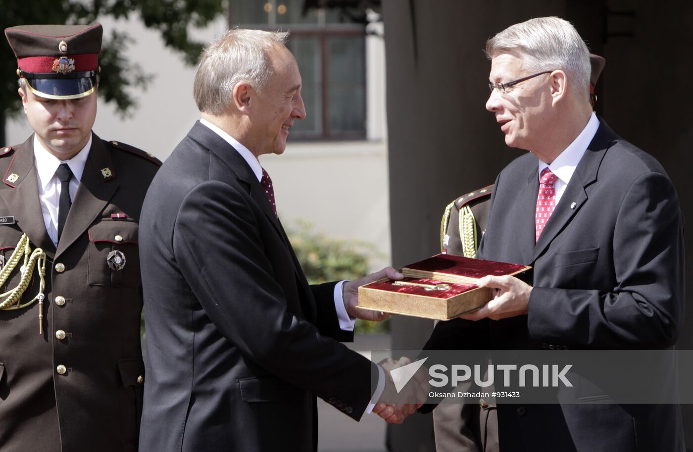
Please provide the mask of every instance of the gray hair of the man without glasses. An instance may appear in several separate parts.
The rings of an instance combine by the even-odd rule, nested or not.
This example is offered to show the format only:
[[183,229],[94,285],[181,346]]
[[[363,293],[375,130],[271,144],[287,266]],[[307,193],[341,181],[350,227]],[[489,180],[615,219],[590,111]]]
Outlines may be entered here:
[[288,32],[236,28],[212,41],[202,52],[195,73],[193,97],[198,109],[221,115],[240,82],[261,91],[274,75],[267,52],[283,46],[288,37]]

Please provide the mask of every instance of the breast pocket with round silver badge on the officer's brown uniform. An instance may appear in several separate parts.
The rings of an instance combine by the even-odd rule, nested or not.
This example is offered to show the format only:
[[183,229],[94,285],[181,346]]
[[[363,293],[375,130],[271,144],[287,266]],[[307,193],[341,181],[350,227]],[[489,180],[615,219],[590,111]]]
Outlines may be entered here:
[[89,228],[89,285],[141,286],[137,229],[134,221],[109,219]]

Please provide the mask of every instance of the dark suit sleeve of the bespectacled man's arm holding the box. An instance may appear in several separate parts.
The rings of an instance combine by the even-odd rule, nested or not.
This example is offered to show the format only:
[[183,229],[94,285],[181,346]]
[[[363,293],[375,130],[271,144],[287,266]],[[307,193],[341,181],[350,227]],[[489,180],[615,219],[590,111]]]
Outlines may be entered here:
[[685,302],[683,217],[667,176],[650,172],[633,182],[612,243],[611,290],[532,290],[527,321],[532,338],[584,348],[676,343]]

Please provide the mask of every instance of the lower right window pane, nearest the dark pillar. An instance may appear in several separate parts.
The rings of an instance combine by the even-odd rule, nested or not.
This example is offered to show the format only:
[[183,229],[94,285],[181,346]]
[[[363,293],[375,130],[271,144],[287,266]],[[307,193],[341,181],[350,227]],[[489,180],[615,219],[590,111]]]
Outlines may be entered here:
[[365,39],[328,39],[330,133],[365,131]]

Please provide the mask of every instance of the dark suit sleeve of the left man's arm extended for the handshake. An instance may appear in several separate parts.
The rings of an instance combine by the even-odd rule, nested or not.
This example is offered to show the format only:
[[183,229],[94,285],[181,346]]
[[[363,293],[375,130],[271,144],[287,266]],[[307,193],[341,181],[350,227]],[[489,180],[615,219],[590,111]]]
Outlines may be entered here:
[[288,312],[274,272],[294,270],[272,267],[248,202],[216,181],[186,195],[173,235],[180,271],[214,326],[244,357],[318,397],[342,400],[358,420],[376,366]]

